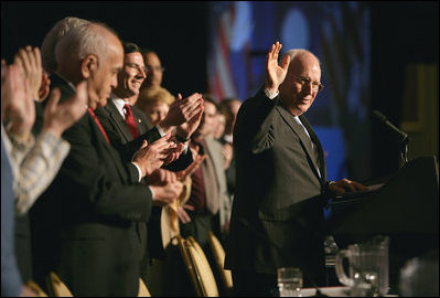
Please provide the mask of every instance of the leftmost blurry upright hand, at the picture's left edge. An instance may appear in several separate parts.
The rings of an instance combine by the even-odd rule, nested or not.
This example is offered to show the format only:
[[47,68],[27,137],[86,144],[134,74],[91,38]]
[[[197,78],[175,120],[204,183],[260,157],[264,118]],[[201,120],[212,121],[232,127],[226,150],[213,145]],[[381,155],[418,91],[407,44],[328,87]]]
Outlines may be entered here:
[[10,119],[11,134],[28,139],[35,121],[35,105],[30,92],[29,81],[24,78],[22,68],[12,64],[6,71],[3,84],[2,117]]

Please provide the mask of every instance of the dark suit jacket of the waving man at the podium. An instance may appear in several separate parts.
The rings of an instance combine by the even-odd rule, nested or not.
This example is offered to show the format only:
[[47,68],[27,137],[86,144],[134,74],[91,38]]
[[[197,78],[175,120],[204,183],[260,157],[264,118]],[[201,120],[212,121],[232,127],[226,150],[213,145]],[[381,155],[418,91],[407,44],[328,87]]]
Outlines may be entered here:
[[234,129],[237,181],[225,268],[276,274],[297,266],[321,281],[322,207],[307,199],[324,191],[325,161],[312,128],[300,119],[318,147],[318,164],[310,138],[279,97],[271,100],[261,89],[242,105]]

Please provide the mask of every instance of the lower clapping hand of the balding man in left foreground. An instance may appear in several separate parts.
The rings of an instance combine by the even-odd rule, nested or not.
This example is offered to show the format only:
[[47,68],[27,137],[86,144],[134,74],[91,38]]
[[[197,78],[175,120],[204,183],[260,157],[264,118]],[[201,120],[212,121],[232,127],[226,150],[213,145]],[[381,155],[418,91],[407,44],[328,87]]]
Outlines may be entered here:
[[173,203],[181,194],[183,188],[175,173],[164,169],[154,170],[147,181],[154,192],[154,204],[160,206]]

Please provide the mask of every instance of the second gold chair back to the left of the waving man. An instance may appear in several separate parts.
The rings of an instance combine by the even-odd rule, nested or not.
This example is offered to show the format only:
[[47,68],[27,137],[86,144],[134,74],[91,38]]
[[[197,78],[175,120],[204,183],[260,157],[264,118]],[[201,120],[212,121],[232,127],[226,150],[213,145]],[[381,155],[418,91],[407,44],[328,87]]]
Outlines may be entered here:
[[186,247],[198,273],[203,297],[218,297],[217,283],[202,247],[192,236],[186,238]]

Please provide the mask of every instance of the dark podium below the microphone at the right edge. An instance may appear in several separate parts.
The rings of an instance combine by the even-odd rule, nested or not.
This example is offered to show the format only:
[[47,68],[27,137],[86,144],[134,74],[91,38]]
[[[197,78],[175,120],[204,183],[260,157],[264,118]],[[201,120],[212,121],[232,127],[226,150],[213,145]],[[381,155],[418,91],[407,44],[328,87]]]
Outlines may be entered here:
[[411,160],[378,190],[334,196],[329,206],[335,235],[438,234],[436,158]]

